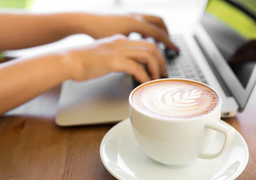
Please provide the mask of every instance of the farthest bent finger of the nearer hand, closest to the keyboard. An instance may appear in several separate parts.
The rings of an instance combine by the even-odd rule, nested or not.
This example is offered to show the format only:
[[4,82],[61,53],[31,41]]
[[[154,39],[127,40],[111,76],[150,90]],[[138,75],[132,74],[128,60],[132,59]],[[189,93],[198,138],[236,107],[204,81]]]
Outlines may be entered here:
[[125,47],[130,47],[130,48],[137,47],[137,48],[149,49],[151,53],[153,53],[158,60],[158,63],[160,65],[160,74],[163,77],[167,76],[166,59],[164,58],[163,54],[159,51],[156,44],[147,42],[145,40],[141,40],[141,41],[125,40],[120,42],[120,45],[123,45]]

